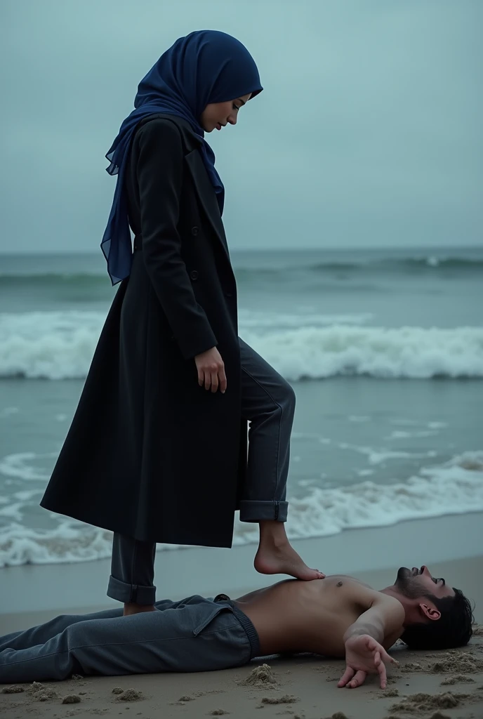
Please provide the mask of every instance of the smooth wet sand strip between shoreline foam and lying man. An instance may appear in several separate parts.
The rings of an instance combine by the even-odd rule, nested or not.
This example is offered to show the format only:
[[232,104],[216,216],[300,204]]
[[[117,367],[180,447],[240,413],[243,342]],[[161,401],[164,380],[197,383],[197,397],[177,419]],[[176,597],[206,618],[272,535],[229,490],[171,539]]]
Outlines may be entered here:
[[[483,513],[415,519],[385,527],[348,529],[339,534],[298,539],[293,545],[311,567],[326,574],[374,572],[386,567],[413,567],[476,557],[483,548]],[[158,551],[157,599],[181,599],[224,592],[240,597],[254,588],[283,579],[253,568],[253,544],[233,549],[196,547]],[[71,564],[22,564],[0,569],[0,635],[28,626],[22,613],[42,621],[66,610],[96,611],[116,606],[106,597],[109,559]],[[459,564],[455,565],[456,572]],[[393,570],[391,570],[393,572]],[[386,585],[394,582],[391,572]],[[436,572],[436,570],[435,570]],[[437,574],[442,576],[441,574]],[[457,575],[458,576],[458,575]],[[466,577],[462,577],[462,580]],[[454,580],[455,586],[457,578]],[[9,630],[9,626],[12,628]]]

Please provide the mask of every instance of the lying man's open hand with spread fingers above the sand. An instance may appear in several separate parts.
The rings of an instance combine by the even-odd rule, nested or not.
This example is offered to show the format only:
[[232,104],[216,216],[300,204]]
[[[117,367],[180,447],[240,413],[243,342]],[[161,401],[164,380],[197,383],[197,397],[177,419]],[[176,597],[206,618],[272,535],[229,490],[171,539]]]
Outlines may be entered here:
[[361,634],[351,636],[346,641],[346,671],[339,680],[338,687],[355,689],[364,683],[367,674],[379,674],[381,689],[386,688],[387,675],[384,662],[397,664],[392,656],[378,641],[369,636]]

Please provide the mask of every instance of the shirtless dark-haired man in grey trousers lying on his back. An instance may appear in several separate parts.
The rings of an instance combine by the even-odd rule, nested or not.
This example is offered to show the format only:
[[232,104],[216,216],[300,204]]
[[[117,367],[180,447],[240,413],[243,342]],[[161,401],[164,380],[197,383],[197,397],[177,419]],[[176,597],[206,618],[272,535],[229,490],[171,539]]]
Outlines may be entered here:
[[401,567],[377,592],[353,577],[285,580],[230,600],[226,595],[157,602],[151,612],[122,609],[61,615],[0,638],[0,682],[67,679],[71,674],[206,672],[255,656],[313,652],[344,657],[339,687],[367,674],[386,687],[387,654],[398,638],[415,649],[464,646],[472,612],[461,590],[427,567]]

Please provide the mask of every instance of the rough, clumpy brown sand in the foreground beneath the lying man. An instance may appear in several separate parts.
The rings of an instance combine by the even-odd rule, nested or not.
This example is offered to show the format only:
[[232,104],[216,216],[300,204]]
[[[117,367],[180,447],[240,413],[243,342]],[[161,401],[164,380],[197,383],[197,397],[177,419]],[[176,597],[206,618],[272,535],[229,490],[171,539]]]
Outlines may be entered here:
[[[459,583],[476,603],[475,618],[480,623],[474,627],[469,646],[438,652],[396,646],[392,651],[400,666],[389,670],[385,691],[380,690],[376,677],[369,677],[357,690],[339,689],[337,681],[344,670],[344,661],[339,659],[313,655],[266,657],[222,672],[75,677],[66,682],[20,684],[18,691],[2,685],[0,716],[482,719],[482,562],[481,557],[475,557],[438,564],[438,572],[446,572],[447,577],[454,577],[455,566],[459,565]],[[358,576],[379,586],[381,574],[359,572]],[[42,620],[45,618],[42,613]],[[29,614],[29,620],[35,621],[35,614]]]

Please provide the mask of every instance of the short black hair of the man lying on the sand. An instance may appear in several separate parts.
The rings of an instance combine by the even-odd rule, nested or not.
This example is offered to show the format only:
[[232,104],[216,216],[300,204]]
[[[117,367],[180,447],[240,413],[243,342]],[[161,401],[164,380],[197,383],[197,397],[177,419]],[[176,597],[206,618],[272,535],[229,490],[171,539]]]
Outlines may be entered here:
[[473,633],[473,611],[463,592],[453,589],[454,597],[427,595],[441,617],[405,628],[401,639],[411,649],[454,649],[468,644]]

